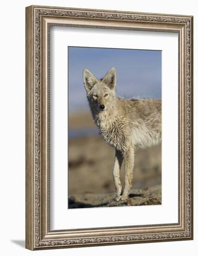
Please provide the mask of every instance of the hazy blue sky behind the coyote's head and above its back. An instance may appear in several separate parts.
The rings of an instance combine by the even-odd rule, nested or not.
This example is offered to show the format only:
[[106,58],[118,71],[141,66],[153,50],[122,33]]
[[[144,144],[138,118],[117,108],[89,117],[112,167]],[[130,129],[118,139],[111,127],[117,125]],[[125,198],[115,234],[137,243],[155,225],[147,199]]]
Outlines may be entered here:
[[83,68],[102,78],[115,67],[116,94],[132,98],[161,98],[161,51],[68,47],[69,111],[89,108]]

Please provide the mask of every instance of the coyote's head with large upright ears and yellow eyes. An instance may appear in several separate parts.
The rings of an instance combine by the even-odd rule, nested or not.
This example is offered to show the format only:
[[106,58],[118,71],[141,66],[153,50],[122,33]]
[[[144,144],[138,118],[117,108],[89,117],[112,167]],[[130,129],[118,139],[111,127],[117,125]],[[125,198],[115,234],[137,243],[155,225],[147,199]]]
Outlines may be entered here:
[[115,98],[115,67],[112,67],[104,78],[99,80],[89,70],[84,69],[83,82],[90,107],[96,111],[107,110]]

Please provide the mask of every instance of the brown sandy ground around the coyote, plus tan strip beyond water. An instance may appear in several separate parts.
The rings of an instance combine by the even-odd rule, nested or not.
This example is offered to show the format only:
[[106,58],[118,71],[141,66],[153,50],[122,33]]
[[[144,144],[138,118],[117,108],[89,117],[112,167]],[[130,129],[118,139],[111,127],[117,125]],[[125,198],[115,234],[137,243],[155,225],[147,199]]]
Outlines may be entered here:
[[[95,128],[90,114],[69,117],[70,129]],[[135,152],[134,182],[128,202],[115,203],[112,169],[115,150],[100,136],[69,140],[69,208],[160,204],[161,146]],[[121,168],[124,185],[124,169]],[[134,189],[134,190],[133,190]],[[155,192],[152,192],[155,191]],[[135,196],[138,195],[138,196]],[[141,195],[141,196],[140,196]]]

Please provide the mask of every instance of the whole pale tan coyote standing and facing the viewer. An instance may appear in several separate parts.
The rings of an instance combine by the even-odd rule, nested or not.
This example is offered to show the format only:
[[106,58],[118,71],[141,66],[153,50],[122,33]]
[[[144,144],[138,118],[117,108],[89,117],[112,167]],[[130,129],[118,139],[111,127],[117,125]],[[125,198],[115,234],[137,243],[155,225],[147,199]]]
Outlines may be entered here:
[[[161,142],[161,99],[123,99],[116,96],[115,67],[99,80],[84,69],[83,82],[93,120],[102,138],[115,148],[115,200],[126,200],[133,180],[134,150]],[[125,188],[122,193],[120,168],[123,160]]]

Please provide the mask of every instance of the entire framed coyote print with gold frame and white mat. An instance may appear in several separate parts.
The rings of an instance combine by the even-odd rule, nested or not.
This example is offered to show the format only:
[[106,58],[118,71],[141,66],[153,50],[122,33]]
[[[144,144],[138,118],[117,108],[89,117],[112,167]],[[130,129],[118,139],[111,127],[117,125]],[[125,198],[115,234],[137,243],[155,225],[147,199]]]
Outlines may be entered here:
[[193,17],[26,7],[26,248],[193,239]]

